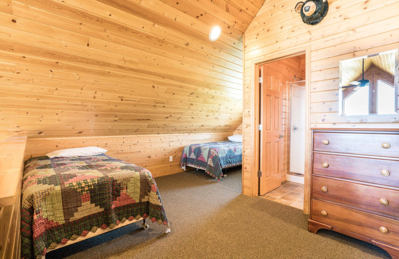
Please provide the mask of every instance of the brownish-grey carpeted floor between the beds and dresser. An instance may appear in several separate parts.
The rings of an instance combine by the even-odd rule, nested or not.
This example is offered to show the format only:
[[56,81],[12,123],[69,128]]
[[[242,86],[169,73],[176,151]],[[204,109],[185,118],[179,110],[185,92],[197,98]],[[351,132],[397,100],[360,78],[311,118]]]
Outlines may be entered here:
[[389,259],[366,242],[307,231],[301,210],[241,194],[241,168],[214,181],[203,171],[156,178],[172,232],[150,223],[111,231],[47,254],[46,259],[251,258]]

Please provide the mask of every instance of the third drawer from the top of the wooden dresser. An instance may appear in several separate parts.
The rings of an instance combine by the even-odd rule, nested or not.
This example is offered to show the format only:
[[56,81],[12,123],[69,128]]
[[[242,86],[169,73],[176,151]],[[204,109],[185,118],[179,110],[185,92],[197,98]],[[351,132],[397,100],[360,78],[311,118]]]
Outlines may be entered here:
[[312,181],[312,197],[399,217],[399,191],[316,176]]

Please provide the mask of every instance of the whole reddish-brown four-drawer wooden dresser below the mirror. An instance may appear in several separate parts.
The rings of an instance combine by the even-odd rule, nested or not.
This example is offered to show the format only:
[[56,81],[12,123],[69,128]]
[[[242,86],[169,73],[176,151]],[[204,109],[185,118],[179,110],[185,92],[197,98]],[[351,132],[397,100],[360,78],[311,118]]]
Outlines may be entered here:
[[308,229],[372,243],[399,259],[399,130],[313,129]]

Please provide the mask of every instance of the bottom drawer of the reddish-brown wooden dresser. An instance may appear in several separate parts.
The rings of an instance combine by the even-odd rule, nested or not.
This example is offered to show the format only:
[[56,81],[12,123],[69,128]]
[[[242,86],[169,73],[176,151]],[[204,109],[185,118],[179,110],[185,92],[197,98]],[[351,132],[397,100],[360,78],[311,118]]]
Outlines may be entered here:
[[[322,215],[322,211],[327,216]],[[312,199],[312,220],[385,242],[399,244],[399,221]],[[380,228],[388,230],[387,234]]]

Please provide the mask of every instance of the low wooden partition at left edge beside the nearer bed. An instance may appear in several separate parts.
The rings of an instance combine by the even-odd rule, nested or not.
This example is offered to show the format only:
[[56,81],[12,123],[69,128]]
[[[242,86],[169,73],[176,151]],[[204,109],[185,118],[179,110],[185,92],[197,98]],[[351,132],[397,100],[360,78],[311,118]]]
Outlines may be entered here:
[[0,259],[21,258],[20,207],[26,137],[0,141]]

